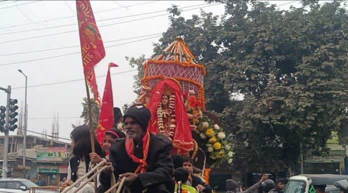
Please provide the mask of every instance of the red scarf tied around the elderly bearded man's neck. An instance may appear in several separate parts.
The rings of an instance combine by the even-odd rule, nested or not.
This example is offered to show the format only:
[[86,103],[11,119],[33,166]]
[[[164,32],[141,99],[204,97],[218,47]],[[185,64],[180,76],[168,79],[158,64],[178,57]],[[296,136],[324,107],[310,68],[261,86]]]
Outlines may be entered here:
[[146,171],[146,168],[148,166],[146,163],[146,158],[147,158],[149,144],[150,144],[150,133],[146,131],[145,135],[142,137],[143,158],[140,159],[133,155],[134,153],[133,139],[129,137],[125,138],[125,151],[135,163],[139,163],[139,166],[135,169],[134,173],[138,173],[138,172],[144,173]]

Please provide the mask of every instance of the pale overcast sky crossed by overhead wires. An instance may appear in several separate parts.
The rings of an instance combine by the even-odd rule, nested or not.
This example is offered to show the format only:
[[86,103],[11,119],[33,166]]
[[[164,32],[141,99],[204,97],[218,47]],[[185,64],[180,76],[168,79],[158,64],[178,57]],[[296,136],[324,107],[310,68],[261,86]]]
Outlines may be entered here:
[[[301,6],[299,0],[270,2],[280,5],[279,9],[288,9],[290,5]],[[222,4],[209,5],[202,0],[91,1],[104,46],[115,45],[105,48],[106,56],[95,67],[96,76],[102,76],[96,78],[101,98],[105,84],[103,75],[106,75],[107,64],[114,62],[119,65],[110,69],[111,74],[117,73],[111,75],[114,106],[121,108],[123,104],[136,99],[132,84],[133,75],[137,72],[128,64],[125,56],[138,57],[144,54],[149,57],[153,54],[152,43],[158,42],[158,35],[169,27],[168,15],[163,14],[167,13],[164,10],[172,4],[185,10],[181,15],[186,19],[191,18],[192,14],[199,14],[199,7],[214,15],[221,15],[224,11]],[[141,14],[154,11],[158,12]],[[130,16],[135,14],[141,15]],[[10,85],[11,98],[17,99],[20,106],[20,103],[24,103],[25,78],[18,69],[27,75],[27,134],[40,136],[30,131],[41,133],[43,129],[50,134],[53,114],[59,113],[59,137],[69,138],[71,124],[83,123],[79,116],[82,112],[82,98],[86,96],[75,1],[0,0],[0,21],[0,87],[7,88]],[[60,47],[68,48],[37,51]],[[6,93],[2,90],[0,105],[6,105]],[[16,131],[9,134],[14,135]]]

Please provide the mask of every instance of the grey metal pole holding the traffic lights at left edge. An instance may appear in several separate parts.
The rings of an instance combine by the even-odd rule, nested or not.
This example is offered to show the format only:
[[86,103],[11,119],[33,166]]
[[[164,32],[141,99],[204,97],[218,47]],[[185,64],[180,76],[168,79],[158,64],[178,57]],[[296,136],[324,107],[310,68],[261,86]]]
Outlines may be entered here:
[[0,87],[1,90],[7,92],[7,104],[6,104],[6,129],[5,138],[3,144],[3,158],[2,158],[2,177],[7,177],[7,153],[8,153],[8,127],[9,127],[9,100],[11,97],[11,86],[7,86],[7,89]]

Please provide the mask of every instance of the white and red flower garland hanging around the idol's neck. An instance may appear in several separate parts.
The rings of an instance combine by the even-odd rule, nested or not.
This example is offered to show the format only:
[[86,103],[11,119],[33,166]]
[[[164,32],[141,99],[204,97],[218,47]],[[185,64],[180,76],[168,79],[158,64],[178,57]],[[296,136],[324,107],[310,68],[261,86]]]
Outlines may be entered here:
[[[163,117],[168,117],[170,116],[170,122],[169,122],[169,132],[168,132],[168,137],[172,139],[174,136],[174,131],[175,131],[175,104],[174,104],[174,99],[175,96],[174,94],[171,94],[169,97],[169,105],[168,105],[168,111],[163,110],[162,104],[159,103],[157,110],[156,110],[156,115],[157,115],[157,129],[159,133],[165,134],[167,129],[164,127],[164,122],[163,122]],[[169,117],[168,117],[169,118]]]

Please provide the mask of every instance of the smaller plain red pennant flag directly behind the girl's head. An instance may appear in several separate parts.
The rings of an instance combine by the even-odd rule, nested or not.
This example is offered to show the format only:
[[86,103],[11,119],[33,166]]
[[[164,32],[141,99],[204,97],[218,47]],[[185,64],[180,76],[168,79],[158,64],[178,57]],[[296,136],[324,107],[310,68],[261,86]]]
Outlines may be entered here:
[[102,103],[100,108],[99,122],[98,122],[98,127],[96,129],[96,139],[98,140],[101,146],[104,141],[105,131],[112,128],[112,124],[114,123],[110,67],[117,67],[117,66],[118,65],[111,62],[109,63],[109,66],[107,69],[104,94],[102,95]]

